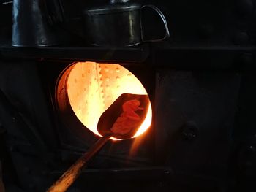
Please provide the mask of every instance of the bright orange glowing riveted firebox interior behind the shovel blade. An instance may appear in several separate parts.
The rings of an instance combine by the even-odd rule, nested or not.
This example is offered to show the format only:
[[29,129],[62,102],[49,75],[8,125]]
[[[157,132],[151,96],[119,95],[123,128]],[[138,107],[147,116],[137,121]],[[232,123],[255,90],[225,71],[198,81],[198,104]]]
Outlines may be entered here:
[[[75,115],[83,125],[99,136],[99,118],[118,96],[122,93],[147,94],[137,77],[123,66],[89,61],[78,62],[72,66],[67,79],[67,93]],[[151,119],[150,104],[146,118],[134,137],[148,129]]]

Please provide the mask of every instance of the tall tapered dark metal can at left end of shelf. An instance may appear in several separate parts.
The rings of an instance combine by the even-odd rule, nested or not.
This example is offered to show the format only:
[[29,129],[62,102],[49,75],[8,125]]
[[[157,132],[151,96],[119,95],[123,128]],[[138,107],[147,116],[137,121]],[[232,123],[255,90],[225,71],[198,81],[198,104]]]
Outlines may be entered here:
[[45,0],[13,1],[12,46],[45,47],[56,45],[53,28],[48,23]]

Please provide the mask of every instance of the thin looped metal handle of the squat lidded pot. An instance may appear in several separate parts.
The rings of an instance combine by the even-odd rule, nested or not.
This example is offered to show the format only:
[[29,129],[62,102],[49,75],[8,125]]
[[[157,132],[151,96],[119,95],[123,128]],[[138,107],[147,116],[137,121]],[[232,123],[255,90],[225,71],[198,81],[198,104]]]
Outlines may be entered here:
[[160,9],[156,6],[154,6],[153,4],[146,4],[146,5],[143,5],[142,7],[140,7],[140,13],[142,11],[143,8],[145,7],[149,7],[151,9],[153,9],[155,12],[157,12],[157,14],[160,16],[160,18],[162,19],[162,23],[164,23],[165,25],[165,36],[162,37],[161,39],[148,39],[148,40],[145,40],[143,38],[143,30],[142,30],[142,20],[141,20],[141,14],[140,14],[140,33],[141,33],[141,39],[143,42],[161,42],[167,38],[170,37],[170,32],[169,32],[169,28],[168,28],[168,25],[167,25],[167,21],[165,19],[165,15],[160,11]]

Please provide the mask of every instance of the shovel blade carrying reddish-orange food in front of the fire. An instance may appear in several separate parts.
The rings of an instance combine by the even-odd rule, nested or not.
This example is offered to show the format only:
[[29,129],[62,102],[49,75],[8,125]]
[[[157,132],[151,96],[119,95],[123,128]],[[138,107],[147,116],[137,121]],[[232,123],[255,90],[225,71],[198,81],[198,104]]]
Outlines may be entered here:
[[147,95],[121,94],[99,118],[99,134],[113,134],[116,139],[132,138],[146,118],[149,103]]

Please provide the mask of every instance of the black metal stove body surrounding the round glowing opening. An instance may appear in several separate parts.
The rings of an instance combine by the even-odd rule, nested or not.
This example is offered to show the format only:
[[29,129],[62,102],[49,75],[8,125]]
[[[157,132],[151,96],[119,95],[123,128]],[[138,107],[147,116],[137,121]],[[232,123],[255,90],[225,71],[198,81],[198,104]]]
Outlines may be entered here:
[[173,36],[129,48],[84,47],[69,34],[61,34],[67,41],[56,47],[11,47],[12,7],[1,4],[0,158],[6,191],[46,191],[97,140],[70,133],[56,112],[57,78],[74,61],[127,67],[148,91],[153,123],[133,155],[135,142],[109,142],[69,191],[255,188],[253,2],[151,2],[167,15]]

